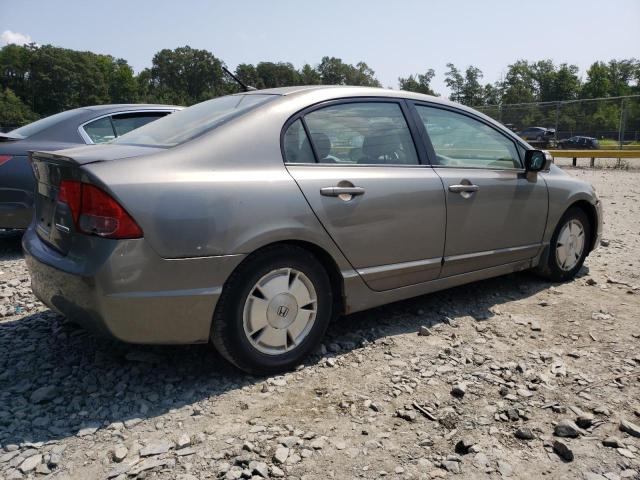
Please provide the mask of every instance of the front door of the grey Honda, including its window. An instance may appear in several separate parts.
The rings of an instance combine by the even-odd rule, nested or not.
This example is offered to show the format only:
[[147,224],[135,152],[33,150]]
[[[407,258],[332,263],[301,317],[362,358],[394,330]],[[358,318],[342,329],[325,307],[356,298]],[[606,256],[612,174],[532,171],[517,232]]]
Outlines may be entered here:
[[442,276],[534,257],[542,246],[548,194],[526,175],[519,147],[475,116],[414,104],[447,199]]

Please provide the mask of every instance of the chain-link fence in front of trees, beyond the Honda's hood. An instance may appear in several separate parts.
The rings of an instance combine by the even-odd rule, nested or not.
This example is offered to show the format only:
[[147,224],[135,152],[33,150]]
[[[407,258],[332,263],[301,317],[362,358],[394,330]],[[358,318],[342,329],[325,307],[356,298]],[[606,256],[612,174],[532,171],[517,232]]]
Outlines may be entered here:
[[601,147],[640,148],[640,95],[474,108],[515,132],[554,130],[552,143],[579,135],[597,138]]

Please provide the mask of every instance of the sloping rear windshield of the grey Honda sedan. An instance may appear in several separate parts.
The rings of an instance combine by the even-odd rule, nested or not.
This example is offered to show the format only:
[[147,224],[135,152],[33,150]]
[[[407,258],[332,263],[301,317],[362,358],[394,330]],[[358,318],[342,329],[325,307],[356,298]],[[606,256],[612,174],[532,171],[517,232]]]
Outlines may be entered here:
[[274,98],[274,95],[260,94],[214,98],[148,123],[111,143],[173,147]]

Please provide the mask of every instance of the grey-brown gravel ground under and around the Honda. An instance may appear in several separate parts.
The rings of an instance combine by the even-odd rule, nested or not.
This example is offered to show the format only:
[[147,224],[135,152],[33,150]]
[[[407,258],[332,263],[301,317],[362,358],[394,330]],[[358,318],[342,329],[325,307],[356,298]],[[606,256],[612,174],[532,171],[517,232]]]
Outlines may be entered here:
[[0,234],[0,478],[640,478],[640,172],[571,173],[605,211],[573,282],[352,315],[270,378],[87,334],[35,300]]

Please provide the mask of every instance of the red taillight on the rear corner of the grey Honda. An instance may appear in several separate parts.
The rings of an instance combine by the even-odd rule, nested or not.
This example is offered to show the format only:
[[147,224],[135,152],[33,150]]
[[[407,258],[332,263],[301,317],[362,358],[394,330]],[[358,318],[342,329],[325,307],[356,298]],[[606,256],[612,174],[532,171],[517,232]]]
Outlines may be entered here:
[[74,180],[60,184],[58,201],[71,210],[78,230],[107,238],[140,238],[142,229],[108,193]]

